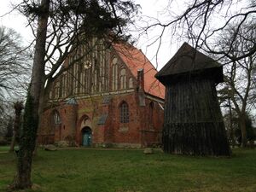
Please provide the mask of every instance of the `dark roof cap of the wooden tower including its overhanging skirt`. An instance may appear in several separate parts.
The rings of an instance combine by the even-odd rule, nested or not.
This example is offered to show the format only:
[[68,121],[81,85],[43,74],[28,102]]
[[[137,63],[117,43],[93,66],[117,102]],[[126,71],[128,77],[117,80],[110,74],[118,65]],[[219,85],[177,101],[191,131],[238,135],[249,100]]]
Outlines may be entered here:
[[[169,79],[170,77],[177,78],[188,73],[209,72],[211,70],[214,71],[212,75],[214,75],[215,81],[222,82],[222,66],[217,61],[191,47],[188,43],[183,43],[172,59],[166,63],[160,72],[155,74],[155,77],[165,84],[167,77]],[[218,73],[216,73],[216,70]]]

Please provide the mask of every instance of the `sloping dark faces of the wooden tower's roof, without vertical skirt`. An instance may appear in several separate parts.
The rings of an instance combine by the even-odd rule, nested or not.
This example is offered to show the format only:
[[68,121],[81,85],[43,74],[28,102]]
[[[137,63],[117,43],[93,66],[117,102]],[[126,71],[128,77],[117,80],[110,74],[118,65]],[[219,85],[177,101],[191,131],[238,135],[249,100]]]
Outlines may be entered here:
[[156,73],[155,77],[160,79],[163,76],[191,73],[215,67],[220,67],[220,64],[217,61],[214,61],[207,55],[202,54],[200,51],[191,47],[188,43],[183,43],[172,59],[166,63],[160,72]]

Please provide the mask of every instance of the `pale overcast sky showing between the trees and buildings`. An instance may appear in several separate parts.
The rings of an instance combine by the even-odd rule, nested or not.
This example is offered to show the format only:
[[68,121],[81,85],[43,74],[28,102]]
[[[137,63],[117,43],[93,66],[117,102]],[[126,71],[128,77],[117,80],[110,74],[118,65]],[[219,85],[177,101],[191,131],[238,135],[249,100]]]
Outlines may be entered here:
[[[7,14],[11,9],[10,3],[19,3],[22,0],[1,0],[0,6],[0,16]],[[137,26],[145,26],[145,20],[150,20],[150,23],[154,23],[155,19],[160,20],[161,22],[167,22],[168,20],[172,20],[173,18],[170,16],[176,16],[181,13],[188,3],[187,0],[134,0],[136,3],[140,4],[142,9],[143,18],[137,19]],[[241,0],[237,3],[232,4],[232,9],[227,13],[231,13],[234,9],[241,9],[242,3],[247,0]],[[169,5],[169,2],[172,2],[172,7]],[[227,14],[224,9],[224,15]],[[166,16],[167,15],[167,16]],[[217,16],[217,17],[215,17]],[[153,19],[154,18],[154,19]],[[211,20],[212,27],[223,25],[225,22],[225,18],[222,17],[221,13],[214,15],[214,20]],[[17,12],[12,12],[10,14],[5,15],[4,17],[0,17],[0,25],[8,26],[14,28],[15,31],[19,32],[20,35],[24,38],[26,44],[32,42],[32,32],[29,26],[26,27],[27,22],[26,18],[22,15],[19,15]],[[132,35],[134,38],[137,38],[138,29],[136,27],[131,27]],[[163,67],[167,61],[172,58],[177,51],[177,49],[183,44],[183,41],[179,38],[175,38],[171,35],[171,28],[168,28],[162,38],[160,49],[156,57],[157,49],[159,48],[159,41],[152,44],[156,38],[160,36],[161,28],[154,27],[153,30],[148,30],[147,34],[144,34],[143,37],[137,39],[136,47],[138,49],[142,49],[143,53],[147,55],[148,60],[154,64],[158,70]],[[177,29],[177,32],[181,30]]]

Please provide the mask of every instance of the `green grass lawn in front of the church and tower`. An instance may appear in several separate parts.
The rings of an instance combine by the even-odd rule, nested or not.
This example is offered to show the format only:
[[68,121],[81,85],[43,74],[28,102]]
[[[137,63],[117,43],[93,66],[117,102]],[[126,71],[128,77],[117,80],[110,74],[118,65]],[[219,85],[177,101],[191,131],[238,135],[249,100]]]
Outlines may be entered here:
[[[3,149],[2,149],[3,151]],[[0,191],[15,172],[15,155],[0,153]],[[193,157],[141,150],[38,151],[35,187],[45,192],[255,192],[256,149],[231,158]]]

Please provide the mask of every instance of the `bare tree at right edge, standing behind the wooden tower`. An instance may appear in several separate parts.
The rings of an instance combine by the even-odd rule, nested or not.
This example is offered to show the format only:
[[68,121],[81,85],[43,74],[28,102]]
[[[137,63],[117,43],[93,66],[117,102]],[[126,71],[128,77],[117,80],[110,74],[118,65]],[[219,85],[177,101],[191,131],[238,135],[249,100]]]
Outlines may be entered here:
[[[220,50],[227,52],[230,49],[230,56],[237,58],[239,55],[246,55],[247,49],[252,47],[256,42],[256,25],[244,24],[239,31],[236,27],[230,26],[228,30],[223,32],[218,44]],[[234,42],[230,42],[236,33]],[[230,47],[230,44],[232,46]],[[256,68],[256,53],[253,55],[243,56],[241,59],[234,61],[230,57],[224,57],[224,74],[225,87],[222,90],[225,92],[232,102],[231,106],[236,111],[241,128],[241,145],[247,146],[247,128],[246,118],[247,112],[255,108],[255,90],[256,86],[253,82],[255,79],[253,72]]]

